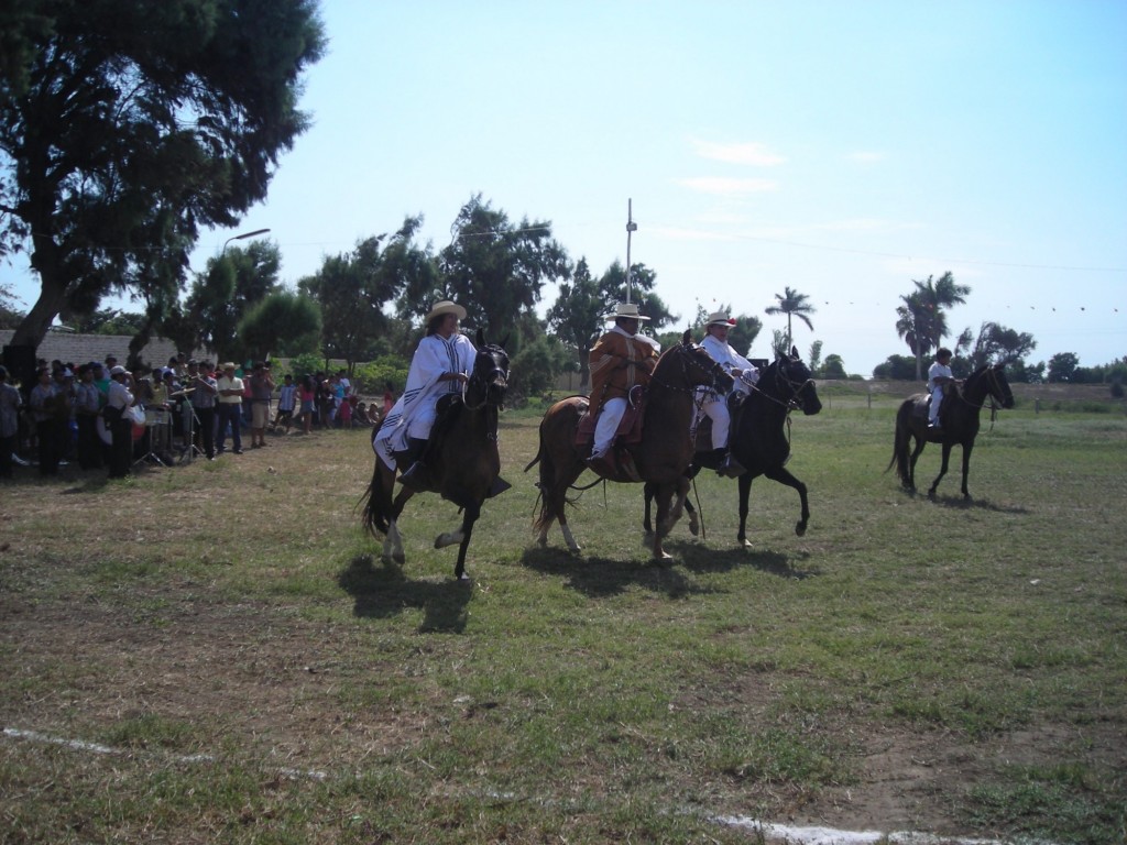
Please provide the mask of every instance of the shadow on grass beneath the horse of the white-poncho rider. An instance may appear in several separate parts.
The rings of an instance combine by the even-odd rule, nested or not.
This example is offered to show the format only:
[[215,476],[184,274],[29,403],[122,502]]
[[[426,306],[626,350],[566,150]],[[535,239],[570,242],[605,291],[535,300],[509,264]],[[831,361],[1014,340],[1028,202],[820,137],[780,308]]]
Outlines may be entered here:
[[419,633],[462,633],[473,590],[454,580],[412,581],[396,564],[376,567],[372,555],[358,554],[337,576],[361,619],[398,616],[405,611],[423,611]]

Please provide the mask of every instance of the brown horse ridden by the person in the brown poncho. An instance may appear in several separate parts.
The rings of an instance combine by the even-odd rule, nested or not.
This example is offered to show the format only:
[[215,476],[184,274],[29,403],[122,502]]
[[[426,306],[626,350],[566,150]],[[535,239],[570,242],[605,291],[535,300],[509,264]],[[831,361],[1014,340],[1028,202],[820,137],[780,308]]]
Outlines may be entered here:
[[[685,332],[681,343],[668,349],[657,362],[646,397],[646,419],[641,439],[620,446],[633,462],[637,478],[611,478],[612,481],[646,481],[654,484],[657,497],[657,519],[659,525],[668,523],[671,502],[675,491],[687,488],[685,470],[693,457],[693,444],[689,439],[689,428],[696,412],[694,391],[696,385],[707,385],[720,392],[731,389],[731,376]],[[591,400],[586,397],[570,397],[560,400],[544,415],[540,422],[540,451],[525,472],[540,463],[540,515],[533,525],[539,532],[539,543],[548,543],[548,530],[552,522],[559,522],[564,539],[573,552],[579,544],[571,536],[564,512],[567,492],[583,473],[587,448],[576,444],[579,419],[587,412]],[[678,496],[678,500],[683,498]],[[669,555],[662,549],[662,532],[654,541],[654,557]]]

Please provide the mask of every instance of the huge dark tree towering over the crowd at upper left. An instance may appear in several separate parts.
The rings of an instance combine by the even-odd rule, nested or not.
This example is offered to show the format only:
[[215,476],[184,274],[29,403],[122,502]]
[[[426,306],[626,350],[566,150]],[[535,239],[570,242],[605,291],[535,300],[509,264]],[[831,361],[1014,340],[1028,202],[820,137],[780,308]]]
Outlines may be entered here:
[[0,30],[0,251],[41,283],[12,343],[107,293],[159,319],[198,228],[265,198],[308,125],[316,0],[20,0]]

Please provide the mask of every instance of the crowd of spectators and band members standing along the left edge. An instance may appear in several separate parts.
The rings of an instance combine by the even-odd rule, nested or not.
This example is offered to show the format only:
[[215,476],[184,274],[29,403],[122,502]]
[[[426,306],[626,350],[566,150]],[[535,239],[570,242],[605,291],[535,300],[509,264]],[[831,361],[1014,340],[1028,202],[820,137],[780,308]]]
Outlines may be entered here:
[[266,362],[241,367],[181,354],[128,372],[109,355],[77,365],[39,359],[24,382],[0,366],[0,479],[17,466],[56,475],[72,465],[122,478],[142,462],[241,455],[245,433],[259,450],[277,436],[380,424],[376,404],[343,370],[276,381]]

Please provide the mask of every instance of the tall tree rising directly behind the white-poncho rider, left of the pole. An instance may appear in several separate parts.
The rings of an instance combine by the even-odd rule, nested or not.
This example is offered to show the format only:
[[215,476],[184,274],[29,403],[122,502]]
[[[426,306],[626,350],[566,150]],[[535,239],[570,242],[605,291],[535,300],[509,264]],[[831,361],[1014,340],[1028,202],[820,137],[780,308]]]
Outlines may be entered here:
[[451,226],[451,242],[440,255],[441,287],[411,285],[401,299],[405,313],[426,314],[435,299],[465,308],[468,323],[496,340],[511,332],[517,318],[534,313],[544,284],[571,272],[567,252],[552,239],[549,221],[520,223],[473,196]]

